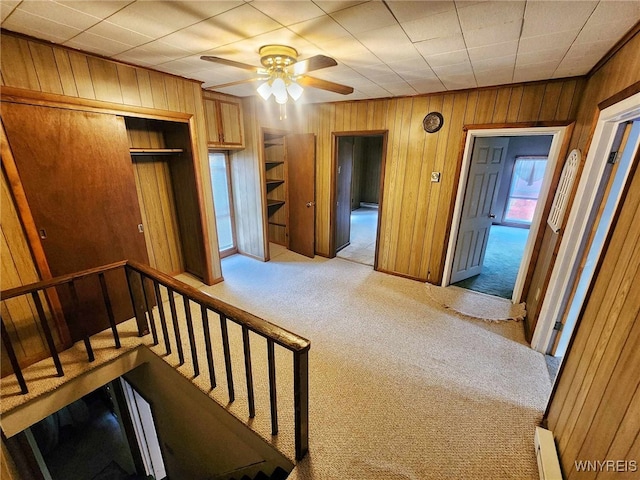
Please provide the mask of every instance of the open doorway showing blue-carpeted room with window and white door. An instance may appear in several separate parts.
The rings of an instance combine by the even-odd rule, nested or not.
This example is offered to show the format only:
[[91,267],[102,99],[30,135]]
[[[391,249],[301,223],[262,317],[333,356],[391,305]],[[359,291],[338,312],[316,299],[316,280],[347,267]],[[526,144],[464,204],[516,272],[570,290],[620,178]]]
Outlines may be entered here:
[[511,299],[552,140],[551,135],[475,140],[453,285]]

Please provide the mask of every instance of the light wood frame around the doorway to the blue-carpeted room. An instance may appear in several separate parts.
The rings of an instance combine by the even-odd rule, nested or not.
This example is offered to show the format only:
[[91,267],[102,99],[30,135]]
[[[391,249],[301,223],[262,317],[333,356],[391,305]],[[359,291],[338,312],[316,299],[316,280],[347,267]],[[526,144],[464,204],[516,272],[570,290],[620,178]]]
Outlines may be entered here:
[[549,148],[549,156],[547,160],[547,167],[544,172],[544,179],[542,181],[542,187],[540,189],[540,196],[538,197],[538,203],[533,214],[533,220],[529,228],[529,236],[527,237],[527,243],[525,245],[524,254],[520,261],[520,268],[518,269],[518,276],[513,288],[513,295],[511,301],[513,303],[519,303],[525,293],[525,285],[528,277],[528,272],[532,260],[535,260],[534,254],[535,246],[539,241],[539,234],[541,233],[540,226],[543,223],[543,216],[545,210],[547,210],[547,204],[549,203],[549,190],[556,175],[558,159],[567,150],[567,141],[570,137],[570,130],[572,129],[572,123],[541,123],[541,124],[512,124],[512,125],[468,125],[464,127],[465,131],[465,143],[464,151],[462,154],[462,164],[460,170],[460,178],[458,181],[458,188],[456,193],[456,201],[453,210],[453,216],[451,219],[451,231],[449,233],[449,242],[447,246],[447,255],[445,257],[445,264],[442,276],[442,286],[446,287],[451,281],[451,270],[453,268],[453,256],[458,238],[458,230],[460,228],[460,221],[462,219],[462,204],[464,202],[464,193],[467,187],[467,181],[469,177],[469,168],[471,166],[471,153],[473,150],[473,143],[476,137],[523,137],[523,136],[540,136],[551,135],[553,137],[551,141],[551,147]]

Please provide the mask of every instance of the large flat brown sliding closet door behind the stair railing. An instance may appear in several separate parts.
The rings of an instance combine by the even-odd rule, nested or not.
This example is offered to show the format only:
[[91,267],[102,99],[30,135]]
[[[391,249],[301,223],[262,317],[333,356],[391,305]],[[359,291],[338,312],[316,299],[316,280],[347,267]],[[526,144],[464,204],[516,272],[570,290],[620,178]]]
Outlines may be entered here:
[[[2,120],[55,276],[131,259],[148,263],[124,120],[2,103]],[[107,275],[116,321],[133,316],[125,276]],[[97,279],[78,282],[79,310],[59,288],[73,341],[108,328]]]

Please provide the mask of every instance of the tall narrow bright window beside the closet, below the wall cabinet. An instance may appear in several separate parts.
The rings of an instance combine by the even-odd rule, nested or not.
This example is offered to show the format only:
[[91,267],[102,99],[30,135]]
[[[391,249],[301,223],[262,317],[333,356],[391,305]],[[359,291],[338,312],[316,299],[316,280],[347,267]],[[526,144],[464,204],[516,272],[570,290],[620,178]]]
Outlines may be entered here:
[[229,158],[225,153],[209,153],[209,169],[218,228],[218,246],[221,256],[224,257],[236,252]]

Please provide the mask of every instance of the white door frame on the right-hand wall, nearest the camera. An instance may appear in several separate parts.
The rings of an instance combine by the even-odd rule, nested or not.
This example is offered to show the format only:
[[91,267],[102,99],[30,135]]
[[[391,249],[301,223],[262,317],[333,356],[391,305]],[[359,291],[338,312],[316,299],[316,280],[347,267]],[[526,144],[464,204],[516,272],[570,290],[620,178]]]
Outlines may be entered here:
[[[598,107],[597,123],[591,143],[587,147],[584,169],[564,228],[565,234],[560,239],[547,294],[540,308],[538,324],[531,338],[531,347],[542,353],[547,353],[553,346],[555,322],[563,314],[562,299],[570,293],[573,286],[570,277],[581,260],[581,240],[584,235],[588,235],[589,212],[596,201],[597,185],[606,166],[618,125],[640,115],[640,93],[636,92],[613,104],[605,101]],[[623,192],[624,189],[617,193],[616,204],[619,203]],[[615,218],[612,219],[614,220]],[[563,335],[570,333],[564,332]]]

